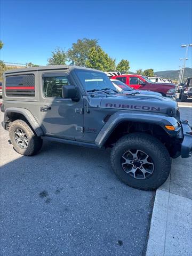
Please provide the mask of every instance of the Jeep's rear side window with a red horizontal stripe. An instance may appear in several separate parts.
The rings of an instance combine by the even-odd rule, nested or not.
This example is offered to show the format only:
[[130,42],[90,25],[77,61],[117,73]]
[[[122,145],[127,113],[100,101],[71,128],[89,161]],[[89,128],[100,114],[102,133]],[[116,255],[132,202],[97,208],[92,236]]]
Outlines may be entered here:
[[11,97],[34,97],[35,75],[7,76],[5,79],[5,93]]

